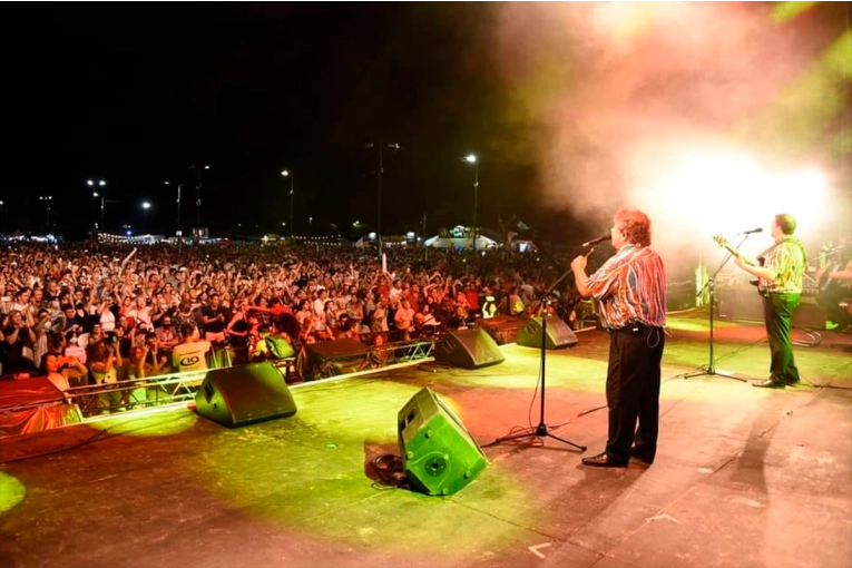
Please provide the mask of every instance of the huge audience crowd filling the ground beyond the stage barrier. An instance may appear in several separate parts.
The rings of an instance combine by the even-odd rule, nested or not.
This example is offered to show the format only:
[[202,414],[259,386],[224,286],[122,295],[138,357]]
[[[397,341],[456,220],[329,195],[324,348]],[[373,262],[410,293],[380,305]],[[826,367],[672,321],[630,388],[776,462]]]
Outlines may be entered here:
[[[542,304],[565,258],[319,244],[16,245],[0,254],[2,376],[61,389],[408,341]],[[550,291],[570,302],[572,283]],[[570,310],[569,310],[570,312]],[[570,316],[566,316],[570,320]]]

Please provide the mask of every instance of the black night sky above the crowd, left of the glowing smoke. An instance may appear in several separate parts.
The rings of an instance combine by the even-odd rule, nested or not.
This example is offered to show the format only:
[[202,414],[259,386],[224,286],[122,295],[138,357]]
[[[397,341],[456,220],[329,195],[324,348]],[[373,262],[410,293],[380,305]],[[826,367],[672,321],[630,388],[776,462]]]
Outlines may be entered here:
[[[27,3],[7,14],[2,199],[10,228],[85,231],[107,180],[106,225],[173,231],[257,225],[286,233],[294,173],[296,233],[376,218],[384,143],[385,234],[537,214],[529,164],[494,151],[512,136],[488,57],[493,12],[478,1]],[[11,100],[8,98],[11,95]],[[395,151],[388,144],[399,144]],[[489,148],[490,147],[490,148]],[[491,153],[489,154],[489,149]],[[483,155],[484,154],[484,155]],[[170,180],[166,187],[164,180]],[[139,204],[154,207],[147,217]],[[532,202],[532,203],[530,203]]]

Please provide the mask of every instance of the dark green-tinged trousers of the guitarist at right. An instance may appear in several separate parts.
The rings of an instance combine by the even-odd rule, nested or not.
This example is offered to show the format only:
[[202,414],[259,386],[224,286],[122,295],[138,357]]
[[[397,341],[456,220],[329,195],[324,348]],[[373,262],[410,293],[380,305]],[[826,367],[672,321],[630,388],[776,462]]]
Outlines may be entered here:
[[770,340],[770,380],[778,384],[800,381],[790,339],[793,312],[799,306],[800,294],[768,293],[763,296],[763,319]]

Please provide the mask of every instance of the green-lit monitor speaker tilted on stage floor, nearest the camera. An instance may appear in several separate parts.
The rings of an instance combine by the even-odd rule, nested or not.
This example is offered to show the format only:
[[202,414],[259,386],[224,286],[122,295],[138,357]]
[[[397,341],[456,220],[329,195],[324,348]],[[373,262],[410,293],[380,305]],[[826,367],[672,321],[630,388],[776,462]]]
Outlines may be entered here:
[[418,392],[398,415],[405,474],[427,494],[452,494],[488,466],[461,420],[429,389]]

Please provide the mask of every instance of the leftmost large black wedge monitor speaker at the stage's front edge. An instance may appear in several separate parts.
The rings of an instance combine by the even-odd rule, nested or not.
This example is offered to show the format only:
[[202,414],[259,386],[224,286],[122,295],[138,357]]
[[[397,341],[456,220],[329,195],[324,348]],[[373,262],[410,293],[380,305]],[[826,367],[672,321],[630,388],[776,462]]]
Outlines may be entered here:
[[284,376],[272,363],[207,371],[195,407],[199,415],[228,428],[296,413]]

